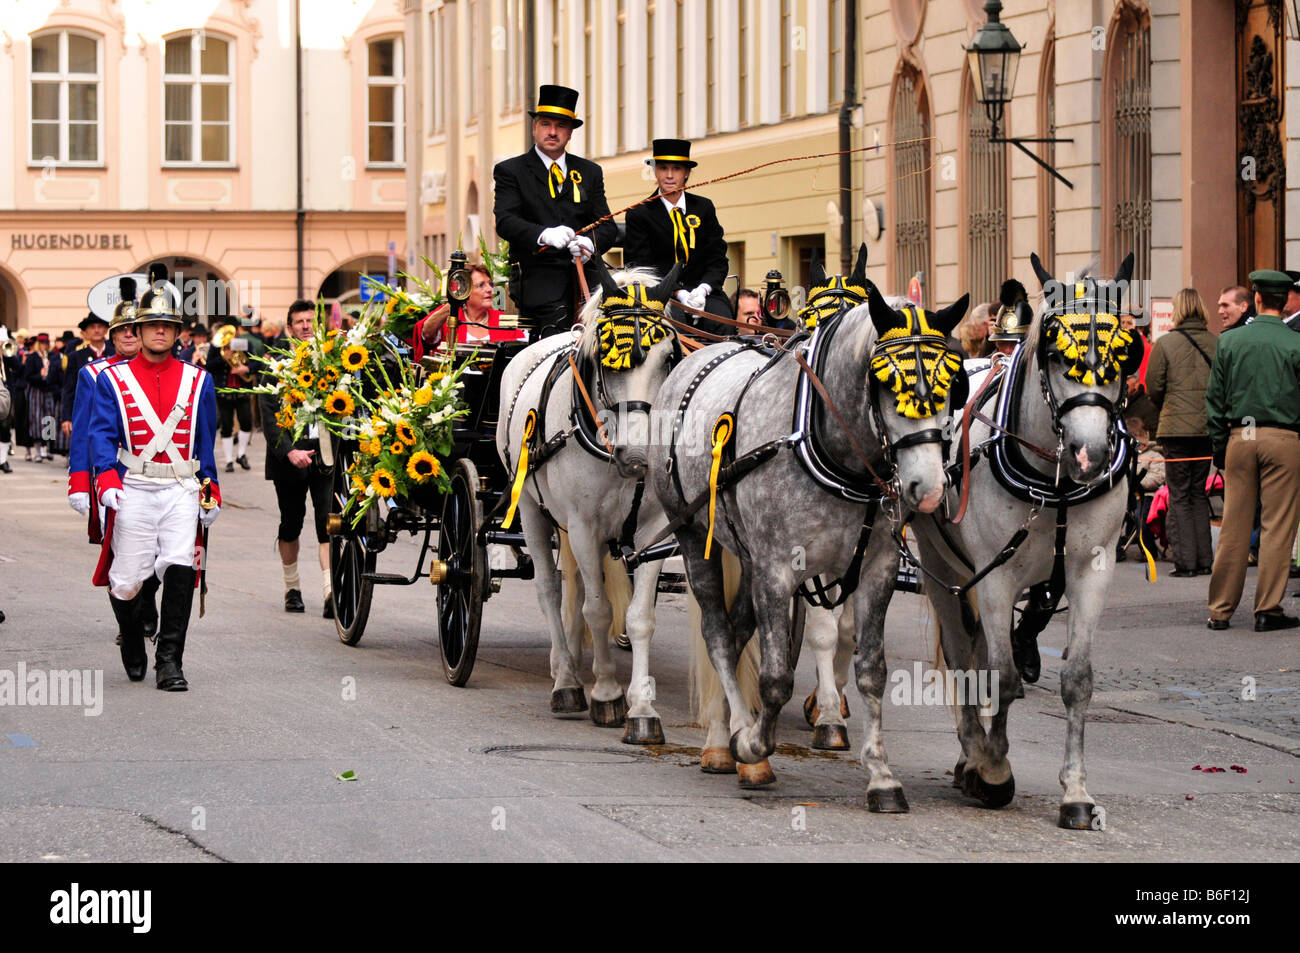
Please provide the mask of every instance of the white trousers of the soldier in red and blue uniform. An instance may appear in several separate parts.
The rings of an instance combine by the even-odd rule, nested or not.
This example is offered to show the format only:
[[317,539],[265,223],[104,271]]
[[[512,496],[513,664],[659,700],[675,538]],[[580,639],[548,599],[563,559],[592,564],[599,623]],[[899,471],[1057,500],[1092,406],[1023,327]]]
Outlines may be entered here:
[[113,521],[113,566],[108,592],[131,599],[151,575],[162,581],[169,566],[198,568],[194,536],[199,525],[199,489],[126,477],[122,504]]

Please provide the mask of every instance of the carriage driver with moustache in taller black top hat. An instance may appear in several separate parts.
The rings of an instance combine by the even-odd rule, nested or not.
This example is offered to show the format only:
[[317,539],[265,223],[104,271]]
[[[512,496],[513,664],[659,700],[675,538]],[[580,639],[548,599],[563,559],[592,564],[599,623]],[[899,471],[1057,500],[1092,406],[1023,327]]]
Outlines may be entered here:
[[[584,263],[603,255],[618,237],[612,218],[590,233],[581,229],[610,215],[601,166],[566,152],[582,125],[575,108],[577,90],[543,86],[533,120],[533,148],[497,163],[497,234],[510,242],[510,296],[519,306],[519,324],[533,338],[568,330],[577,296],[573,257]],[[541,251],[538,251],[541,250]],[[590,265],[589,285],[598,283]]]

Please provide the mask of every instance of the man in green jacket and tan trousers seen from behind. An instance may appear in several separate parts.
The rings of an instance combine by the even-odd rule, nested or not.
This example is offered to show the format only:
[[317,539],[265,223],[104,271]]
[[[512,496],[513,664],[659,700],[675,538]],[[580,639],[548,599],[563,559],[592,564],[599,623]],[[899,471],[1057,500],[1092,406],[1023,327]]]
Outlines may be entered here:
[[1256,319],[1219,338],[1205,391],[1214,462],[1225,468],[1223,527],[1210,576],[1206,625],[1226,629],[1242,599],[1254,504],[1261,507],[1254,631],[1290,629],[1282,611],[1291,542],[1300,523],[1300,335],[1282,324],[1292,281],[1251,272]]

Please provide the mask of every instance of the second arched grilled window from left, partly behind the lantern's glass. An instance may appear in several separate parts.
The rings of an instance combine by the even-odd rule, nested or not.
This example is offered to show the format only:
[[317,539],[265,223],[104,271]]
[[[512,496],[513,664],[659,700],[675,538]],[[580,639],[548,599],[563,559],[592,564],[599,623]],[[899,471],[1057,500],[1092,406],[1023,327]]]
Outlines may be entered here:
[[989,142],[993,124],[975,99],[970,70],[962,70],[962,113],[966,125],[966,286],[971,300],[980,304],[997,300],[1010,268],[1006,254],[1009,196],[1006,146]]

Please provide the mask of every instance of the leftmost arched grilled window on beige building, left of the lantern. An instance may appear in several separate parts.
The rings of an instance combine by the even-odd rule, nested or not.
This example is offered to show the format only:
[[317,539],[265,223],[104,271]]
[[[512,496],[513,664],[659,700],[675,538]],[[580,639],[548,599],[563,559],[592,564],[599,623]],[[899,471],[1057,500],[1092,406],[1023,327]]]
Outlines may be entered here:
[[893,287],[906,290],[913,276],[932,282],[930,194],[933,150],[930,98],[920,73],[905,65],[894,79],[889,127],[893,147]]

